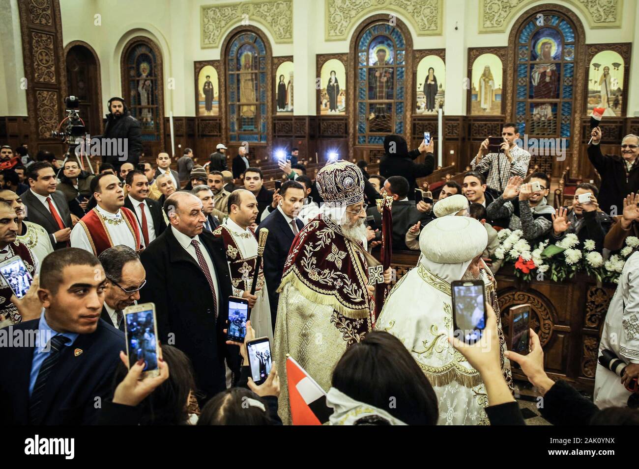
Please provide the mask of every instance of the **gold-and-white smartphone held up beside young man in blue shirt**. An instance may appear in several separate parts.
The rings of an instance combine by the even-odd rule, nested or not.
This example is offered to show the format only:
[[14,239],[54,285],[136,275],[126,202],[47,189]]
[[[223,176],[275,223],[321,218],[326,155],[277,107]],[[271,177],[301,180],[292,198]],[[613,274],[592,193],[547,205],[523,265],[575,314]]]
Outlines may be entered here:
[[124,309],[125,340],[127,342],[128,368],[135,362],[144,360],[142,376],[158,376],[158,342],[157,321],[155,320],[155,304],[134,304]]

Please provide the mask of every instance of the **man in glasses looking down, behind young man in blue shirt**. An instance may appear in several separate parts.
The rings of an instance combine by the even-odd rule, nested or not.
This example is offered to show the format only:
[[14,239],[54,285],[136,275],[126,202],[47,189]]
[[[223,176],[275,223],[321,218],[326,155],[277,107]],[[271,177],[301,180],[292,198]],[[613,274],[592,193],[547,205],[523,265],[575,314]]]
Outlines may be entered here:
[[146,271],[137,253],[123,244],[105,249],[98,256],[107,278],[102,319],[124,331],[124,309],[140,299]]

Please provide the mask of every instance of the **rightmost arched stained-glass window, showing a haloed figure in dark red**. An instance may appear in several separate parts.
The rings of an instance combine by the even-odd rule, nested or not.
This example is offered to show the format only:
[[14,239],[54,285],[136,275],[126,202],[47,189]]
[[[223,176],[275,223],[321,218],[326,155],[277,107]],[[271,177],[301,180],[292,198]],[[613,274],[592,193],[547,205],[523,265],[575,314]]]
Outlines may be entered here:
[[576,57],[573,22],[559,13],[535,14],[521,24],[516,37],[514,110],[520,133],[571,137]]

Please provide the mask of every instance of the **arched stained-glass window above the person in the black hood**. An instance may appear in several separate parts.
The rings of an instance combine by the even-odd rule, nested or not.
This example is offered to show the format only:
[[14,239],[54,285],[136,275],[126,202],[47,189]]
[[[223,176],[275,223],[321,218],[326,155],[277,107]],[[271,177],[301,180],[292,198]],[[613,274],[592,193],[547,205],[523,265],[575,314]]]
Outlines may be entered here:
[[357,38],[357,144],[381,145],[404,133],[406,41],[388,21],[377,21]]

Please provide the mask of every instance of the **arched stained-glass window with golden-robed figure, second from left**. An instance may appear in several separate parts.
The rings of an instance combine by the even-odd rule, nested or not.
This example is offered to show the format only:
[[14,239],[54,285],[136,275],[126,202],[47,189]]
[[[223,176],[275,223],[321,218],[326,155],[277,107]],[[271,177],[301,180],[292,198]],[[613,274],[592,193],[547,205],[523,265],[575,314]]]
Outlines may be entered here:
[[233,37],[227,53],[229,140],[266,142],[266,47],[255,33]]

